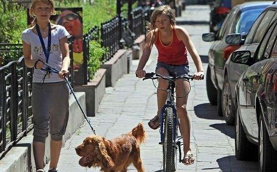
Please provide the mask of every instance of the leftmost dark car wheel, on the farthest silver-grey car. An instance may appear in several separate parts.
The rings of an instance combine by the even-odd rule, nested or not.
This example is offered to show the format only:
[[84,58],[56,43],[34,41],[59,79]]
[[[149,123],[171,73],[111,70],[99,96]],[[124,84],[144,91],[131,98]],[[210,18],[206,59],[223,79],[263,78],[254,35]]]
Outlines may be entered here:
[[211,81],[211,69],[208,66],[206,76],[207,95],[211,105],[217,105],[217,89]]

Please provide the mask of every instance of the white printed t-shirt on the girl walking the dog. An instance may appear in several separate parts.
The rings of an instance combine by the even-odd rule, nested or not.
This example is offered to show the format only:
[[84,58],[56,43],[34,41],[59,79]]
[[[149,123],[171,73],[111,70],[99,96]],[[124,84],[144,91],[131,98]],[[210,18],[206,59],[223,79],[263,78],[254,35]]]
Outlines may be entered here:
[[[48,64],[52,67],[56,67],[57,70],[62,68],[62,54],[60,48],[59,40],[67,37],[69,35],[68,31],[61,25],[57,25],[55,30],[51,31],[51,50],[48,59]],[[31,46],[31,55],[34,60],[41,60],[46,63],[46,56],[43,52],[43,48],[40,43],[39,36],[36,35],[31,28],[27,28],[22,32],[21,39]],[[45,48],[47,49],[48,37],[43,39]],[[45,67],[44,67],[45,68]],[[42,82],[46,71],[41,69],[34,69],[33,73],[33,83]],[[58,77],[57,73],[51,72],[50,75],[45,77],[45,83],[61,82],[64,81]]]

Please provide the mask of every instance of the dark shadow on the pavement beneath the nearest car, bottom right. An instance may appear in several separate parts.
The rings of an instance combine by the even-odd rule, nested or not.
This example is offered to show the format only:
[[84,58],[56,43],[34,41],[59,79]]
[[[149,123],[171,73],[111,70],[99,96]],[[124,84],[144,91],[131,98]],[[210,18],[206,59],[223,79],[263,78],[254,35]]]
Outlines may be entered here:
[[225,156],[216,161],[222,172],[259,172],[257,161],[240,161],[234,155]]

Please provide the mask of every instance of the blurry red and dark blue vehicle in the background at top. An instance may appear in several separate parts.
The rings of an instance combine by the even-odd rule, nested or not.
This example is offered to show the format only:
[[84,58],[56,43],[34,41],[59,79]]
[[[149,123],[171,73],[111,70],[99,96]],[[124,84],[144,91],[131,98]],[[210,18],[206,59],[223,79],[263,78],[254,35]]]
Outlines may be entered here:
[[210,12],[210,32],[217,33],[226,18],[227,14],[231,11],[231,0],[214,0],[209,1]]

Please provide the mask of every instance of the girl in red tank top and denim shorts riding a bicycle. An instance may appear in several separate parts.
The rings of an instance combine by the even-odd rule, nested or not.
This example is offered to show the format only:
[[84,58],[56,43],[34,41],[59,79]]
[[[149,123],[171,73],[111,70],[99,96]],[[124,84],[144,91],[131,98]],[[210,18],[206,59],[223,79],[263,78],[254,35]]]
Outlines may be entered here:
[[[187,51],[191,55],[193,62],[197,68],[194,79],[201,80],[204,76],[200,56],[198,55],[194,44],[192,43],[188,32],[176,25],[175,16],[169,5],[162,5],[156,8],[148,23],[148,34],[143,49],[143,54],[139,60],[136,74],[138,78],[143,78],[146,71],[143,70],[151,54],[152,45],[155,44],[158,50],[158,59],[156,65],[156,73],[162,76],[170,76],[176,73],[176,76],[189,74],[189,65],[187,59]],[[166,102],[166,90],[168,81],[158,79],[157,89],[157,115],[148,123],[151,129],[160,127],[161,108]],[[190,119],[186,109],[190,85],[188,81],[178,79],[176,81],[176,108],[180,121],[180,131],[183,138],[184,165],[194,163],[194,157],[190,149]],[[183,97],[186,95],[185,97]]]

